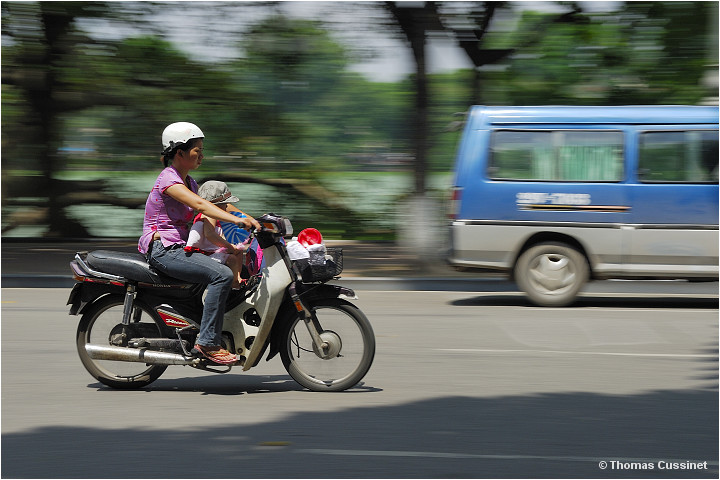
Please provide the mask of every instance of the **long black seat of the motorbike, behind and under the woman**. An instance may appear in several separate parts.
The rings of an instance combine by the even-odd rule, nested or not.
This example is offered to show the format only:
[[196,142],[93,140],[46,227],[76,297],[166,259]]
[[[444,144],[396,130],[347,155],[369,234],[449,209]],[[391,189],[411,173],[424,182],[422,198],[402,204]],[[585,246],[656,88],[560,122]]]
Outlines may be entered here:
[[95,270],[135,282],[157,285],[192,285],[190,282],[178,280],[156,271],[148,265],[145,256],[140,253],[94,250],[87,254],[85,261]]

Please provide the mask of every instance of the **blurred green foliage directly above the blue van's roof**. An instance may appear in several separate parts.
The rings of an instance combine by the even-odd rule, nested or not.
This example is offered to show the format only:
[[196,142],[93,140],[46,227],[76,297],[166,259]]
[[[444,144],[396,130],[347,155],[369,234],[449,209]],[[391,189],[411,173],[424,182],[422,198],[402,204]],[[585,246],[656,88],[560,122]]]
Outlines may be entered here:
[[487,75],[501,91],[494,104],[695,104],[708,95],[700,79],[710,67],[713,2],[627,2],[587,21],[553,18],[523,15],[518,43],[527,46]]

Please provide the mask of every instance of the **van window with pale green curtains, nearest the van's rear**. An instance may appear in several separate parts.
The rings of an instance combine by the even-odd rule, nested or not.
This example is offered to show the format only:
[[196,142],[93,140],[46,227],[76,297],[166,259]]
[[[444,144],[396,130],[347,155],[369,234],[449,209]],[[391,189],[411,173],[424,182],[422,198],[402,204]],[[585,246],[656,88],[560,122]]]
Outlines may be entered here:
[[496,130],[488,176],[493,180],[618,182],[623,134],[596,130]]

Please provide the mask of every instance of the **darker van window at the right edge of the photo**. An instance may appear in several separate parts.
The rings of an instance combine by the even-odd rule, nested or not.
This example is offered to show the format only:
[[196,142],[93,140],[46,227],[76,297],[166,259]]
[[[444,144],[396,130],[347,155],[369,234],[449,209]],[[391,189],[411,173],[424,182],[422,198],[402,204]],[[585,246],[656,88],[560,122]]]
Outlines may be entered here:
[[717,183],[718,132],[645,132],[639,157],[642,182]]

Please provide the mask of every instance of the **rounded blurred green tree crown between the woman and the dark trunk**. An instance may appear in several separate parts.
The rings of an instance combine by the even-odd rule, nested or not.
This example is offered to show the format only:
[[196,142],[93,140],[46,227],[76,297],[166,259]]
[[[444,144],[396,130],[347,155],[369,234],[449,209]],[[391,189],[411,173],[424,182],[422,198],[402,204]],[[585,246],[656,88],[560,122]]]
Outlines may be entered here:
[[241,48],[245,57],[230,68],[248,102],[264,109],[246,149],[337,169],[347,155],[403,145],[408,98],[396,85],[348,73],[348,53],[320,22],[272,16]]

